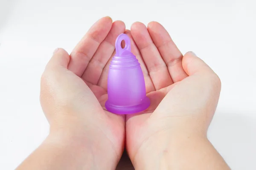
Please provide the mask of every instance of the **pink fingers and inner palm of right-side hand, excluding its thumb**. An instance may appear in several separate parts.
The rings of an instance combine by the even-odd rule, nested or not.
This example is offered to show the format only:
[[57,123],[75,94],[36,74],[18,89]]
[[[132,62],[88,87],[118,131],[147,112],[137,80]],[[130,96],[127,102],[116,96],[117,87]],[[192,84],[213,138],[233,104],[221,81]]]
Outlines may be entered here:
[[[172,87],[187,77],[181,64],[183,56],[159,23],[151,22],[148,28],[143,23],[134,23],[131,32],[126,34],[131,38],[131,50],[143,70],[147,96],[151,101],[144,113],[150,114]],[[128,118],[131,116],[134,115],[128,115]]]

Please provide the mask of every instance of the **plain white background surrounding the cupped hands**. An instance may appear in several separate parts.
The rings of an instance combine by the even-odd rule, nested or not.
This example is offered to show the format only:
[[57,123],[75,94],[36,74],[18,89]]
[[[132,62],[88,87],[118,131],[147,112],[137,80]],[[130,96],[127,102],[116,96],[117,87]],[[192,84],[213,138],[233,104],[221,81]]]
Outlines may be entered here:
[[44,140],[40,78],[57,47],[68,52],[100,17],[160,22],[194,51],[222,91],[209,139],[233,170],[256,169],[254,0],[0,0],[0,169],[13,170]]

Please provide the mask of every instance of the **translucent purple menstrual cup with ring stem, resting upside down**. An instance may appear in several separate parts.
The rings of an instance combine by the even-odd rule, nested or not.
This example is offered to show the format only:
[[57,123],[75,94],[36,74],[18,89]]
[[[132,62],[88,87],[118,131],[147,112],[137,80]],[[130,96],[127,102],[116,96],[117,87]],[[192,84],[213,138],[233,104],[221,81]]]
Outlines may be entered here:
[[[122,40],[125,48],[121,47]],[[131,53],[131,41],[126,34],[116,38],[116,55],[108,72],[108,100],[105,107],[116,114],[144,111],[150,105],[139,61]]]

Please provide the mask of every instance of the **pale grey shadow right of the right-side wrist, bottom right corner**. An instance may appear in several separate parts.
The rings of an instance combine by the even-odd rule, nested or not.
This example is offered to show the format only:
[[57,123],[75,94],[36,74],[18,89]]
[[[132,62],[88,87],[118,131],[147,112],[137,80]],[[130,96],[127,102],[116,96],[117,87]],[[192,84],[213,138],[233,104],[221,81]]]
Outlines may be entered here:
[[256,169],[255,113],[216,111],[208,138],[232,170]]

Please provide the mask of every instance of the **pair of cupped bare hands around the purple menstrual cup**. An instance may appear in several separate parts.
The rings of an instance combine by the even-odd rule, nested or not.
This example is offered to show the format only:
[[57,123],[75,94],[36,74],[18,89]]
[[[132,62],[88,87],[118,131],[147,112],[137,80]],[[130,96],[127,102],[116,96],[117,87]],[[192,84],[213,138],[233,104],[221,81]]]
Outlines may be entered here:
[[[105,109],[121,33],[131,38],[151,100],[147,110],[127,116]],[[159,23],[125,31],[122,21],[103,17],[70,55],[54,51],[40,95],[50,133],[17,170],[113,170],[125,145],[136,169],[228,169],[206,136],[219,92],[218,76],[193,53],[183,57]]]

